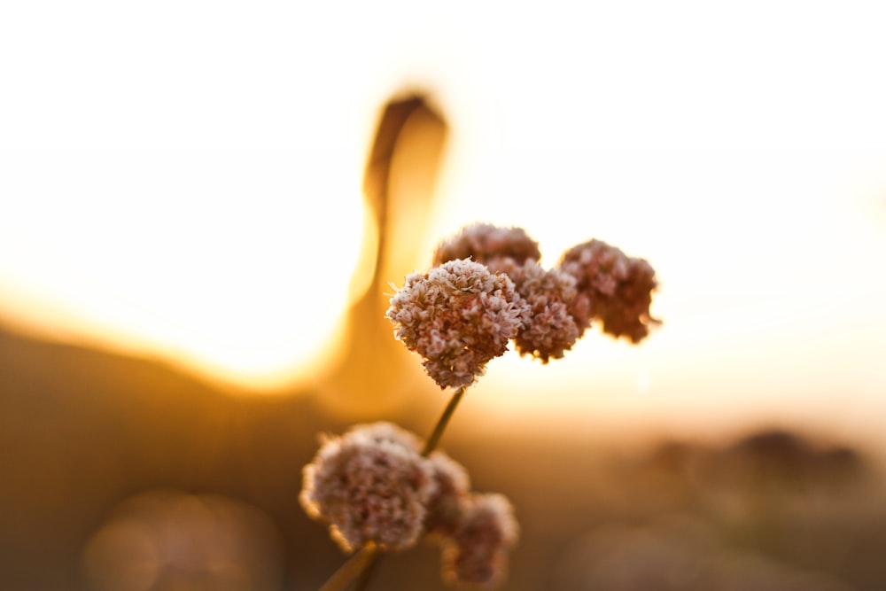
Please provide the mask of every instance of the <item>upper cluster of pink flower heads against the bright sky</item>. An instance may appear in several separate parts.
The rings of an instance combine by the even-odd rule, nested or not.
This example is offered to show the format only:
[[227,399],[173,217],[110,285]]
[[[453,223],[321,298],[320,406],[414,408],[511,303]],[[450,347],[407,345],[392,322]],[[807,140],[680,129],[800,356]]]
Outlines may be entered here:
[[519,228],[478,223],[437,247],[425,275],[391,299],[395,335],[424,358],[441,388],[470,385],[514,339],[520,354],[560,359],[591,325],[638,343],[658,323],[649,315],[655,271],[600,240],[577,245],[555,268]]

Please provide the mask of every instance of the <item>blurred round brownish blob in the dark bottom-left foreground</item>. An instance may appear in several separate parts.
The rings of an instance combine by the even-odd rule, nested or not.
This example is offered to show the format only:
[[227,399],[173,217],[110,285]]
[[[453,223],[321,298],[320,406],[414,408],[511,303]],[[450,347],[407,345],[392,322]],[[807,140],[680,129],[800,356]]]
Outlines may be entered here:
[[284,579],[281,542],[253,505],[154,489],[117,505],[81,558],[96,591],[273,589]]

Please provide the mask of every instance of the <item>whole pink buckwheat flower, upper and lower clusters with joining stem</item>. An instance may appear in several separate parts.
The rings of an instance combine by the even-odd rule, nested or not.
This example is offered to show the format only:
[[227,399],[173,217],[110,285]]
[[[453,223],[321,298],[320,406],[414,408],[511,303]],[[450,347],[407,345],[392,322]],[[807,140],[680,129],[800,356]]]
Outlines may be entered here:
[[443,548],[444,579],[495,585],[517,542],[513,507],[500,494],[470,492],[461,464],[431,450],[464,387],[511,339],[520,354],[547,363],[563,357],[594,321],[616,338],[645,338],[658,323],[649,315],[655,271],[599,240],[543,268],[538,243],[523,229],[484,223],[443,241],[433,261],[427,273],[406,277],[385,315],[396,338],[422,356],[428,375],[441,388],[460,390],[424,451],[415,435],[389,423],[324,439],[304,469],[299,499],[346,551],[399,550],[428,537]]

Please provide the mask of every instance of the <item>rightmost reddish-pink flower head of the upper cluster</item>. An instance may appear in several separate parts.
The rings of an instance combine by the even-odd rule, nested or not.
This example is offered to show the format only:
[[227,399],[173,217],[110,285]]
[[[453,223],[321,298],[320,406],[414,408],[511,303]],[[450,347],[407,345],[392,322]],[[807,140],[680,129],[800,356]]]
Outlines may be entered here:
[[581,330],[596,318],[602,321],[603,332],[639,343],[649,334],[649,326],[659,323],[649,315],[657,282],[647,261],[591,240],[564,253],[560,268],[578,282],[571,313]]

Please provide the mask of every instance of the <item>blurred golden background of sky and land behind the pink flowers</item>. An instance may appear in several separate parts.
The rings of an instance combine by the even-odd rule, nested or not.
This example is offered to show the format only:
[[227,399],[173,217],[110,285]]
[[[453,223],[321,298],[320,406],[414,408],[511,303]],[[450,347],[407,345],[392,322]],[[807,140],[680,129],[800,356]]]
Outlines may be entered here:
[[505,588],[886,587],[884,18],[4,4],[0,587],[319,587],[301,467],[431,428],[385,294],[476,221],[646,258],[664,320],[462,401],[443,447],[522,528]]

